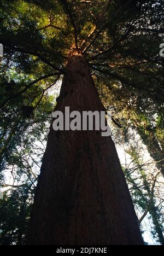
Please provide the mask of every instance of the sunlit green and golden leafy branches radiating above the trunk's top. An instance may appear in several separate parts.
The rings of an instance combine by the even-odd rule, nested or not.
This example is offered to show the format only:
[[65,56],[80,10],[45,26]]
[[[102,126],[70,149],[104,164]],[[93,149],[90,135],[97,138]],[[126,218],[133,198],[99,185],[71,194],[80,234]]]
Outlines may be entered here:
[[[110,73],[110,65],[126,68],[142,63],[142,67],[128,68],[128,77],[132,80],[140,72],[143,90],[152,69],[160,77],[162,1],[14,1],[7,10],[5,1],[1,5],[0,41],[5,57],[12,55],[16,65],[25,66],[21,53],[27,55],[26,67],[42,63],[43,68],[64,73],[66,57],[78,49],[91,67],[98,62],[101,73],[104,65]],[[122,83],[124,70],[116,75]],[[152,91],[154,82],[149,83]],[[137,83],[141,84],[139,79]]]

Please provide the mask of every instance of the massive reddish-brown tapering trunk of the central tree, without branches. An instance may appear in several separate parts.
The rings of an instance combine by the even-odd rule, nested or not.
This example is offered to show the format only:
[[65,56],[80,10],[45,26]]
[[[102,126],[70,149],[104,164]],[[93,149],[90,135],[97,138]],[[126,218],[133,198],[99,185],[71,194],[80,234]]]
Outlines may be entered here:
[[[56,110],[104,110],[83,56],[72,56]],[[111,137],[54,131],[31,213],[27,245],[143,245]]]

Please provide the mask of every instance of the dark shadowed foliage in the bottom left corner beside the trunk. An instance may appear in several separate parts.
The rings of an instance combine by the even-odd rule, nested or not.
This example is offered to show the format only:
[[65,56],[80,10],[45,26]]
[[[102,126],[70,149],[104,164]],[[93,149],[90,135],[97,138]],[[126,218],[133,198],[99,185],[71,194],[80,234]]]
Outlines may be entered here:
[[25,244],[33,200],[33,189],[29,190],[29,184],[26,184],[12,189],[10,195],[5,195],[0,200],[0,245]]

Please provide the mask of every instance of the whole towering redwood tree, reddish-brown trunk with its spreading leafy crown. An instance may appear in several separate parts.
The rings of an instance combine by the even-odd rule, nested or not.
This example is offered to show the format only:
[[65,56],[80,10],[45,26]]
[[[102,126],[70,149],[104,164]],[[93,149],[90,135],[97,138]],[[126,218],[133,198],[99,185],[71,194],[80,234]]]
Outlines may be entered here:
[[[21,135],[38,109],[50,110],[43,106],[46,90],[61,78],[54,107],[63,112],[105,110],[95,83],[109,90],[117,84],[126,97],[161,106],[162,2],[2,0],[0,107],[4,123],[13,115],[16,121],[0,157],[8,160],[12,142],[19,146],[15,132]],[[51,125],[27,244],[143,245],[111,137]]]

